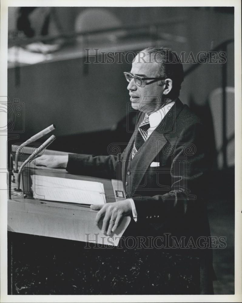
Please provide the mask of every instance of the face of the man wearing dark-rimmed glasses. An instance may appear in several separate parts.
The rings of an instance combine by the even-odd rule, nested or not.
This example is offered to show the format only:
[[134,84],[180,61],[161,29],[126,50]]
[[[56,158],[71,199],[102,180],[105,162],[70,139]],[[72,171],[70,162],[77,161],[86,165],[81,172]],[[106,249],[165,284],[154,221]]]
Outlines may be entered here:
[[[149,56],[149,54],[147,54]],[[142,78],[153,78],[157,76],[159,71],[159,65],[156,62],[149,62],[145,58],[142,59],[137,55],[132,64],[130,74],[140,76]],[[146,83],[143,86],[143,82]],[[127,89],[129,90],[131,105],[134,109],[150,114],[156,112],[162,103],[162,96],[165,85],[158,85],[157,81],[154,80],[143,80],[142,87],[135,83],[134,79],[131,79]]]

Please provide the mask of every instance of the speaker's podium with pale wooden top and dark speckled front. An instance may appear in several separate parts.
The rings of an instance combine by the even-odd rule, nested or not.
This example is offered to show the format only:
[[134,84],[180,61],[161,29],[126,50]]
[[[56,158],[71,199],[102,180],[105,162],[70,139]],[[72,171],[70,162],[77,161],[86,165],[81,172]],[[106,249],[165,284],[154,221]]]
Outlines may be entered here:
[[[28,148],[25,150],[31,153]],[[50,150],[46,153],[66,154]],[[63,169],[38,167],[32,172],[27,169],[24,181],[29,180],[29,174],[37,172],[99,181],[104,185],[107,203],[123,199],[117,197],[116,188],[119,191],[122,188],[118,181],[71,175]],[[209,273],[199,258],[125,246],[120,249],[116,245],[106,245],[105,238],[98,239],[95,235],[92,238],[89,235],[87,242],[85,233],[91,226],[83,227],[82,223],[94,222],[96,212],[89,206],[35,200],[29,194],[27,198],[9,199],[8,294],[206,293],[204,281]]]

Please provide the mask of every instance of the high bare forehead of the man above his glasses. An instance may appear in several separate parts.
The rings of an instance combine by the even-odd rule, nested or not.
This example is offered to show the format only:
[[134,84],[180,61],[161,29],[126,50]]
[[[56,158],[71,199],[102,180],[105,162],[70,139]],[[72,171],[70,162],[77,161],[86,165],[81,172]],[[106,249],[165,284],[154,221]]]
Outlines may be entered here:
[[136,55],[132,63],[132,71],[135,74],[147,75],[158,72],[159,64],[157,62],[152,62],[149,59],[149,55],[150,54],[142,54],[142,56],[139,54]]

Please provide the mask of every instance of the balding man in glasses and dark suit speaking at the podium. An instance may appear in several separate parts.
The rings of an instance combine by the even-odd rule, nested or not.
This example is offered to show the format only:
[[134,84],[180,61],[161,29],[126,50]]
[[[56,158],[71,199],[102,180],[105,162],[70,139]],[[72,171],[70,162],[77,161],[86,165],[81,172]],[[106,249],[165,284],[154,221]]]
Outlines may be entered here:
[[[123,153],[43,155],[35,160],[36,165],[122,179],[126,199],[90,206],[98,210],[96,224],[103,221],[103,233],[110,235],[123,216],[131,216],[133,221],[125,235],[144,237],[144,245],[150,245],[146,240],[151,237],[170,234],[177,241],[184,237],[189,249],[186,254],[202,254],[205,263],[211,264],[211,254],[204,247],[193,245],[200,237],[210,235],[202,197],[210,161],[200,119],[178,98],[182,64],[169,49],[146,48],[134,59],[131,71],[124,74],[132,108],[139,115]],[[184,249],[176,249],[178,252],[183,253]],[[205,293],[212,293],[211,287]]]

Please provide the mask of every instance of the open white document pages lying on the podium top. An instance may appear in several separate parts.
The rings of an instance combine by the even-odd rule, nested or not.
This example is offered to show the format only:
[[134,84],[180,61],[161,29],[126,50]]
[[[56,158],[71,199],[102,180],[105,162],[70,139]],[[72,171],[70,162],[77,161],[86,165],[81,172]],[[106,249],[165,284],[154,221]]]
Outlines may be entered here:
[[35,199],[79,203],[105,204],[103,184],[58,177],[32,175],[32,192]]

